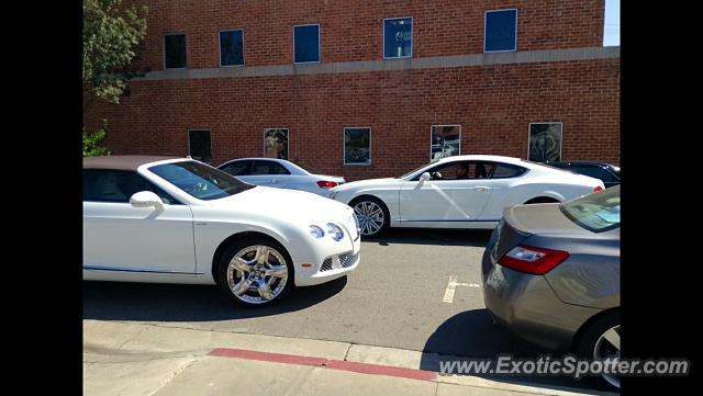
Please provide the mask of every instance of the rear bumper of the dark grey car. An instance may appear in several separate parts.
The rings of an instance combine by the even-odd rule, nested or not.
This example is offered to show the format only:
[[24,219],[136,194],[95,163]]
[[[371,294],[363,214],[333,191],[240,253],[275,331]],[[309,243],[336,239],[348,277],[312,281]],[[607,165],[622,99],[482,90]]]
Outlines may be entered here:
[[502,267],[489,245],[481,263],[483,301],[493,318],[518,337],[566,352],[581,325],[599,309],[562,303],[542,275]]

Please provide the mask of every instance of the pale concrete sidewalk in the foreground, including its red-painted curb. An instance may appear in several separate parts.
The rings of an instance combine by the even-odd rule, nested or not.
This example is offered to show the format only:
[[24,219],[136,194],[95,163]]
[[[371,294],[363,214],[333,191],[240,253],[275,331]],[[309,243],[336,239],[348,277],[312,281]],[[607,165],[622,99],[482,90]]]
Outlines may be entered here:
[[598,394],[438,375],[420,370],[423,360],[347,342],[83,320],[87,396]]

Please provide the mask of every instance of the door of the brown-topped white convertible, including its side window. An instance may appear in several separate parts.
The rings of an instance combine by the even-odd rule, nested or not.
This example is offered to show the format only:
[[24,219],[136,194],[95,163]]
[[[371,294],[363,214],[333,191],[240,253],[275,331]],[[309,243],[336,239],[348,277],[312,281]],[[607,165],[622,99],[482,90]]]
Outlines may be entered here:
[[[167,201],[163,211],[129,203],[133,193],[144,190]],[[190,207],[135,172],[85,170],[83,268],[194,273]]]

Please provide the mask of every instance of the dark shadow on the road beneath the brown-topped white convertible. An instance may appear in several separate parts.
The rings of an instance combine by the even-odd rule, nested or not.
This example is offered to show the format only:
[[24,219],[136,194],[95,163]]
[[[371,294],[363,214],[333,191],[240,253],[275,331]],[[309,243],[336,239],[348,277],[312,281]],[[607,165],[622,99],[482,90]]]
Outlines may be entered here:
[[83,319],[135,321],[209,321],[246,319],[305,309],[337,293],[346,276],[292,290],[265,308],[243,308],[216,286],[160,283],[83,282]]

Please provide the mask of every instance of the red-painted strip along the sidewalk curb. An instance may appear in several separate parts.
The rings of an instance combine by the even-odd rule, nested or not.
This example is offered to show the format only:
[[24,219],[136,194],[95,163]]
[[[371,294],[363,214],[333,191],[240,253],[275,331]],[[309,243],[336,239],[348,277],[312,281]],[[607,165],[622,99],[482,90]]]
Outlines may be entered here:
[[434,371],[395,367],[392,365],[371,363],[347,362],[343,360],[325,358],[302,357],[299,354],[258,352],[249,351],[246,349],[216,348],[210,351],[210,353],[208,354],[211,357],[220,358],[237,358],[247,360],[259,360],[264,362],[313,365],[332,370],[342,370],[370,375],[395,376],[411,380],[432,381],[437,377],[437,373],[435,373]]

